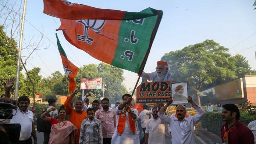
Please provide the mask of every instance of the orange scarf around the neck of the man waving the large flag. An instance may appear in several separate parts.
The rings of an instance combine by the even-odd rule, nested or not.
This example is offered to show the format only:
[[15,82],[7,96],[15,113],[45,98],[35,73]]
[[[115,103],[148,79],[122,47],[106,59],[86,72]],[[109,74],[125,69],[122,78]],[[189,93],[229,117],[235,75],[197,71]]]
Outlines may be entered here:
[[[132,107],[130,106],[132,109]],[[135,127],[135,121],[132,120],[131,115],[128,114],[128,119],[129,119],[129,125],[131,132],[135,134],[136,127]],[[118,123],[117,123],[117,135],[121,136],[122,132],[124,132],[124,127],[125,127],[125,122],[126,122],[126,112],[125,109],[124,111],[120,112],[119,118],[118,118]]]

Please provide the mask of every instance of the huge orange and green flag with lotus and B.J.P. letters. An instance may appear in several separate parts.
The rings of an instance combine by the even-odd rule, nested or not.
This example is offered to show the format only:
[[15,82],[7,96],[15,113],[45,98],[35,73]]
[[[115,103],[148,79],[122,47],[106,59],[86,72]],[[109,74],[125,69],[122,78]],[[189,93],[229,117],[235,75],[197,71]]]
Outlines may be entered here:
[[126,12],[44,0],[45,14],[60,18],[72,45],[107,64],[136,72],[144,69],[163,11]]

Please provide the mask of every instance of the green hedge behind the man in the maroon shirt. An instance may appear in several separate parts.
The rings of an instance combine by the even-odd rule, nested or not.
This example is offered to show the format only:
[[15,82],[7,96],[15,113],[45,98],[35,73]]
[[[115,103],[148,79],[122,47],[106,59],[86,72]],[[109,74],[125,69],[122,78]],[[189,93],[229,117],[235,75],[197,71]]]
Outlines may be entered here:
[[[252,122],[253,120],[255,120],[254,116],[250,115],[248,112],[240,112],[240,122],[246,126],[248,126],[249,122]],[[205,116],[201,120],[201,123],[209,132],[220,136],[221,126],[225,122],[222,120],[221,112],[205,112]]]

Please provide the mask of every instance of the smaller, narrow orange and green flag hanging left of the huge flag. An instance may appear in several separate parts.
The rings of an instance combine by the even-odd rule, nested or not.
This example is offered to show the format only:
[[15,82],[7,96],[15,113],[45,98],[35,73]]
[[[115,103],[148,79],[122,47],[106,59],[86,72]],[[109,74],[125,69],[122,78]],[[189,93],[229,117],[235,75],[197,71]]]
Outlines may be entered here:
[[60,44],[57,33],[56,33],[56,38],[57,38],[58,50],[60,52],[63,68],[64,68],[66,76],[68,77],[68,82],[69,82],[68,89],[69,89],[69,92],[72,93],[72,91],[74,91],[77,86],[74,78],[75,78],[75,76],[77,76],[77,72],[78,72],[79,68],[77,66],[75,66],[74,64],[72,64],[72,62],[70,62],[68,60],[67,55]]

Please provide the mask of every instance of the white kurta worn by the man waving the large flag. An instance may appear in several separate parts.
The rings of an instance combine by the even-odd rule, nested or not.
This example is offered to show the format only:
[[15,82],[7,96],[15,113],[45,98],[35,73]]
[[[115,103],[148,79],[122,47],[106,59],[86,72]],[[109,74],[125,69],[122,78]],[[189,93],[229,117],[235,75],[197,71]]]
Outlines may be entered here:
[[[124,127],[124,132],[121,134],[121,136],[117,135],[117,125],[118,125],[118,119],[119,114],[123,110],[118,110],[119,105],[115,108],[115,113],[117,115],[117,124],[115,126],[115,133],[112,136],[111,144],[139,144],[139,134],[136,129],[135,134],[131,132],[130,125],[129,125],[129,113],[126,112],[126,122]],[[136,114],[136,119],[139,119],[139,113],[136,109],[133,109],[134,113]]]

